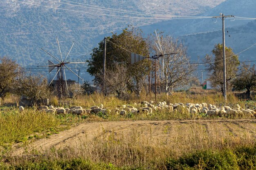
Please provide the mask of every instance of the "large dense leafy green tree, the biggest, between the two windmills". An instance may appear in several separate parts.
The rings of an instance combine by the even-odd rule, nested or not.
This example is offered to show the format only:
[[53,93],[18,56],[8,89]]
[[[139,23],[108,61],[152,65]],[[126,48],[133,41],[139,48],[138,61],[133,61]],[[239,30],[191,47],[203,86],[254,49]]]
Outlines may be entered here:
[[[99,46],[92,49],[91,59],[88,60],[87,71],[94,76],[94,83],[103,87],[102,69],[103,69],[104,41],[99,42]],[[142,36],[142,31],[133,27],[124,29],[121,34],[112,34],[107,37],[106,45],[106,70],[114,70],[115,66],[123,65],[127,68],[128,90],[134,91],[138,96],[144,86],[146,76],[150,72],[150,61],[143,60],[135,64],[130,64],[130,52],[148,56],[148,45]],[[106,87],[106,86],[105,86]],[[106,90],[106,89],[105,89]],[[103,92],[105,95],[106,91]]]

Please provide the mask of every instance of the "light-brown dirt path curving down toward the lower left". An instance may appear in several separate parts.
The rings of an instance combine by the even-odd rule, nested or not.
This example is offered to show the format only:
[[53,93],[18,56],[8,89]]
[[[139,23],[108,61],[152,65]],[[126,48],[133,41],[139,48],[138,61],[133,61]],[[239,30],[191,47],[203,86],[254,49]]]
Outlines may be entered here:
[[89,142],[102,134],[115,132],[129,137],[135,130],[140,130],[150,139],[170,140],[171,137],[189,135],[194,133],[205,133],[212,135],[218,131],[218,135],[239,135],[248,132],[256,137],[256,120],[164,120],[164,121],[109,121],[90,122],[79,124],[69,130],[52,135],[47,139],[40,139],[27,147],[18,148],[14,146],[13,155],[22,155],[26,151],[38,150],[43,152],[51,147],[63,148],[65,146],[76,146],[82,141]]

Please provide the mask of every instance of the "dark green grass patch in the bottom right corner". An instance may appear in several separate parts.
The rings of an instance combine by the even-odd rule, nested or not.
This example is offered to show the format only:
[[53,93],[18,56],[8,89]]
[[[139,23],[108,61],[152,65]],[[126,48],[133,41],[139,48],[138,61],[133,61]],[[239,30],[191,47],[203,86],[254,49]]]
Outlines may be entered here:
[[235,149],[196,151],[166,161],[168,170],[255,170],[256,146]]

